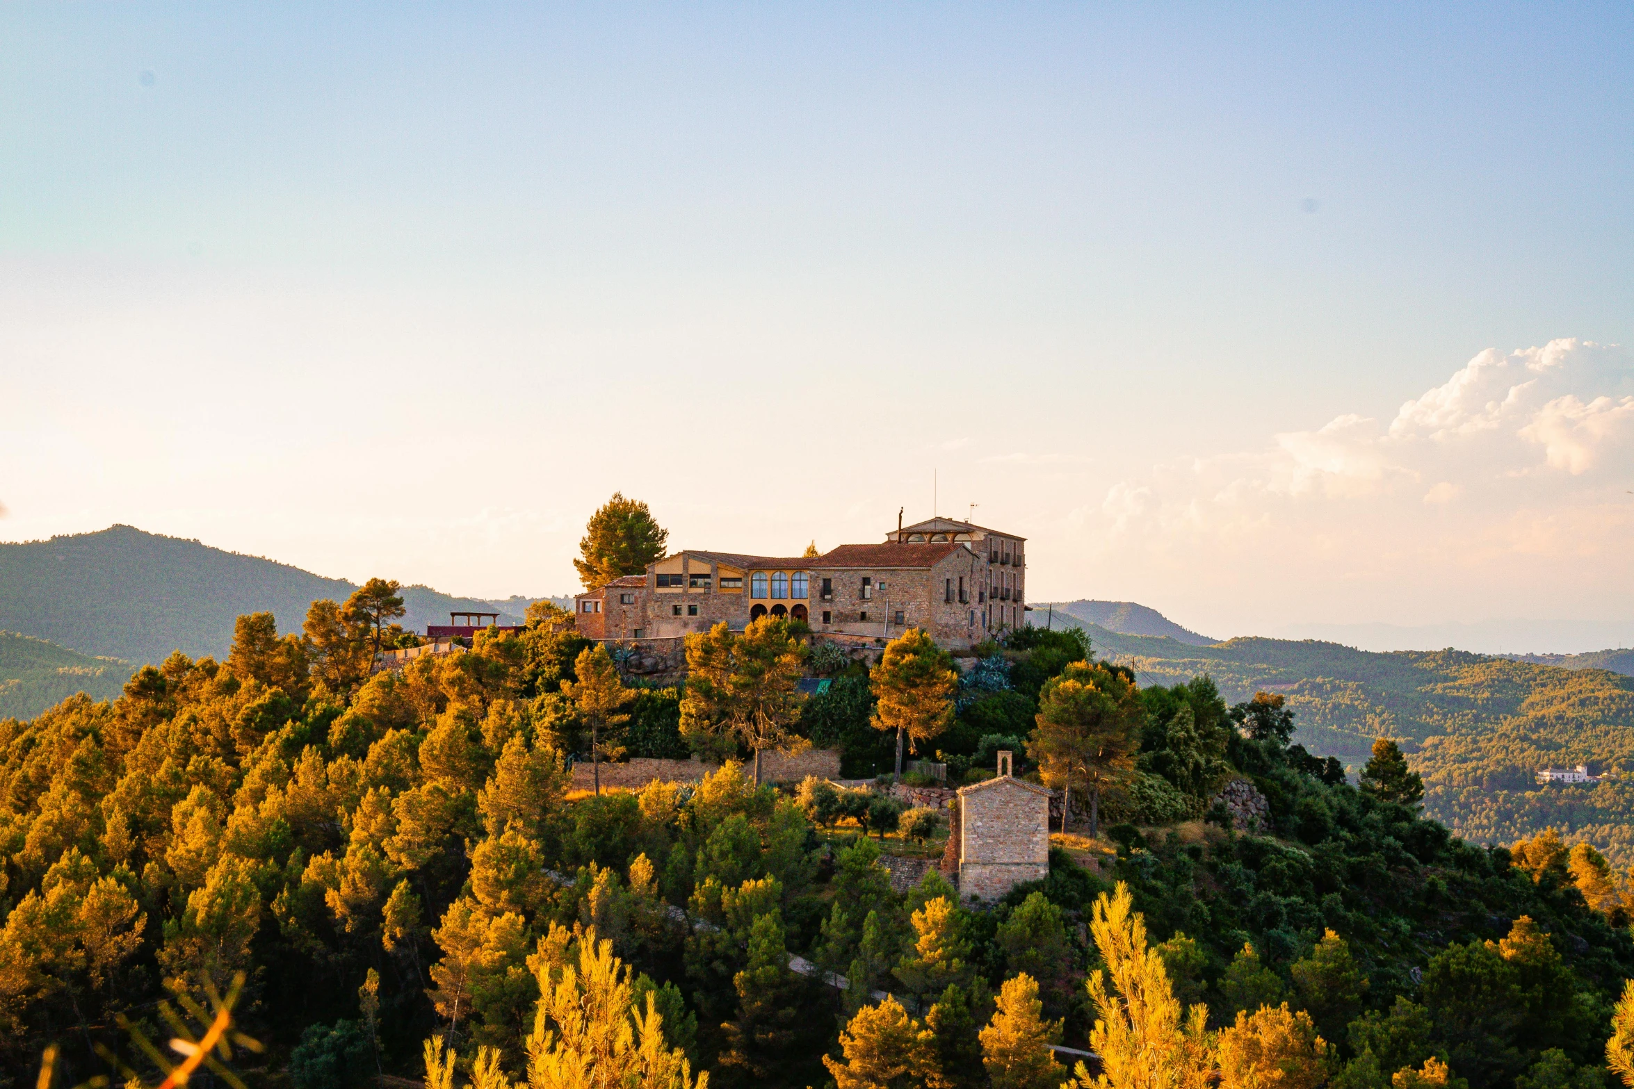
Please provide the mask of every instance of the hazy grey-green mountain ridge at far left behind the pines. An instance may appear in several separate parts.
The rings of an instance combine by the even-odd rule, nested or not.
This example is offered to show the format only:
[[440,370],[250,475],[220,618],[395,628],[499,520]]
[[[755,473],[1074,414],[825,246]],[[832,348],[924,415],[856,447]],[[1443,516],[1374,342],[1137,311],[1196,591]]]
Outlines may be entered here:
[[[0,630],[137,665],[173,650],[221,656],[245,612],[273,612],[279,632],[299,632],[309,604],[345,601],[353,589],[346,580],[131,526],[0,544]],[[425,586],[405,588],[404,604],[410,630],[446,624],[449,609],[490,607]]]

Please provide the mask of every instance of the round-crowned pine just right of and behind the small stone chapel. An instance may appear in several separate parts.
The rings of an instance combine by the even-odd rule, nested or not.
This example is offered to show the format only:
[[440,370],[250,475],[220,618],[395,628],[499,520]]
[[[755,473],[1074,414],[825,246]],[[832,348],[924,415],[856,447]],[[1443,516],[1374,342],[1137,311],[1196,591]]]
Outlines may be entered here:
[[1101,789],[1134,767],[1141,720],[1134,681],[1101,663],[1074,661],[1044,682],[1028,754],[1039,777],[1062,789],[1062,828],[1077,782],[1090,795],[1090,836],[1100,834]]

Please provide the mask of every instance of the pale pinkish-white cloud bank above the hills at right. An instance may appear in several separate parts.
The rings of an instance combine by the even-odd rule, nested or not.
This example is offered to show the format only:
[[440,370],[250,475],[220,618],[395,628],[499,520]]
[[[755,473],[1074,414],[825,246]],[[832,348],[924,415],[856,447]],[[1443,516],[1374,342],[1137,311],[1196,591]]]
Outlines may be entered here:
[[1067,521],[1095,583],[1206,630],[1613,619],[1634,604],[1631,490],[1629,356],[1556,340],[1482,351],[1391,420],[1155,465]]

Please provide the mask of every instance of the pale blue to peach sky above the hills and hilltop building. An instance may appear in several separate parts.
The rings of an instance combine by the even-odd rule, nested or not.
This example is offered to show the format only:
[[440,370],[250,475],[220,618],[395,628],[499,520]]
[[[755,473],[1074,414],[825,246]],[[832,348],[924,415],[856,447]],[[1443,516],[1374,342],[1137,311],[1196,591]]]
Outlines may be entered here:
[[1619,3],[5,5],[0,539],[1629,645],[1631,193]]

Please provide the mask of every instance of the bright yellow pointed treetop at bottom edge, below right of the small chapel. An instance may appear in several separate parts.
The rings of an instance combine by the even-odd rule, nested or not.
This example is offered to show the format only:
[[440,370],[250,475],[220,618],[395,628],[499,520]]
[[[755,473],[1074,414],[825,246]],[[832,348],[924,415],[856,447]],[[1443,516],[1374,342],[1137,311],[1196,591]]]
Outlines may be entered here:
[[[1101,1056],[1100,1086],[1109,1089],[1208,1089],[1214,1060],[1208,1038],[1208,1009],[1181,1014],[1168,985],[1163,957],[1145,945],[1145,922],[1134,914],[1129,887],[1118,882],[1113,896],[1095,901],[1090,932],[1106,965],[1090,976],[1090,998],[1100,1020],[1090,1050]],[[1111,986],[1108,988],[1108,980]],[[1095,1084],[1083,1063],[1070,1084]]]

